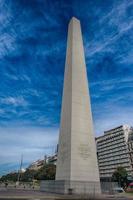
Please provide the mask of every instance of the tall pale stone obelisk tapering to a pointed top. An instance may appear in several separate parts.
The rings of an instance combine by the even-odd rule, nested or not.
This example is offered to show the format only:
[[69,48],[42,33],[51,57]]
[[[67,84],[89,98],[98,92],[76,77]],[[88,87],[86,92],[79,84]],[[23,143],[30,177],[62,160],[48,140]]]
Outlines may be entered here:
[[68,28],[56,180],[69,181],[74,191],[81,183],[93,185],[100,193],[83,40],[75,17]]

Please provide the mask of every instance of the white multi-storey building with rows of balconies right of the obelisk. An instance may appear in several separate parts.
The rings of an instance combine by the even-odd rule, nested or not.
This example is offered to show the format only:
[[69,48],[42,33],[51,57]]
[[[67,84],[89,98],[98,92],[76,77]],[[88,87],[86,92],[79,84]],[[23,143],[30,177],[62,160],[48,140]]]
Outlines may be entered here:
[[104,135],[96,138],[98,165],[101,179],[111,178],[113,172],[118,166],[124,167],[129,176],[132,175],[132,133],[132,127],[122,125],[105,131]]

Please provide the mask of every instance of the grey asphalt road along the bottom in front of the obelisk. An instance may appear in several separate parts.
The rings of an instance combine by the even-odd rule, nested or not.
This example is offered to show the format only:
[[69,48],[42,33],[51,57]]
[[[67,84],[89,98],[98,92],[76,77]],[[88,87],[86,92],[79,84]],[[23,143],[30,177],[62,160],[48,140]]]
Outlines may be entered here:
[[[59,195],[49,194],[40,191],[24,190],[24,189],[1,189],[0,188],[0,200],[89,200],[87,197],[82,198],[80,196],[73,195]],[[90,198],[91,200],[94,198]],[[101,196],[99,200],[133,200],[133,196]]]

